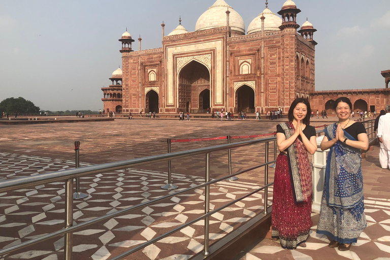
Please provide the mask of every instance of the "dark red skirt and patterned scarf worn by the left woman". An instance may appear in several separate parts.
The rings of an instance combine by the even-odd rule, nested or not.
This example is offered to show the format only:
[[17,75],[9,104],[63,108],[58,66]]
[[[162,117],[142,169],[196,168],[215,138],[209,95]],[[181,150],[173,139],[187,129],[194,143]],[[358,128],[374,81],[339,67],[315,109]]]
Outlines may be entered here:
[[[285,129],[285,132],[290,132],[286,133],[287,139],[294,134],[295,130],[291,123],[285,124],[290,130],[286,131]],[[296,183],[291,184],[291,180]],[[311,169],[307,150],[297,138],[294,144],[288,148],[287,155],[280,153],[276,159],[272,204],[272,238],[280,239],[283,248],[297,248],[309,236],[310,228],[313,225],[310,215]]]

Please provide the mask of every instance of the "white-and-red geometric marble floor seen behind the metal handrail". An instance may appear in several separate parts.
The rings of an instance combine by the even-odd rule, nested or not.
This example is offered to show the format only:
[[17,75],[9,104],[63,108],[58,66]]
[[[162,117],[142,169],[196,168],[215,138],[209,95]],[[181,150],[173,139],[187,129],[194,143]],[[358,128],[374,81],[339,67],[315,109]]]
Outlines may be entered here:
[[[80,167],[88,164],[80,164]],[[74,161],[15,153],[0,153],[0,180],[60,171],[74,167]],[[173,174],[178,190],[200,184],[204,179]],[[88,197],[74,201],[74,224],[176,191],[160,189],[167,173],[126,169],[83,177],[81,192]],[[223,181],[212,185],[210,208],[258,188],[245,181]],[[63,228],[64,183],[55,182],[0,193],[0,248]],[[210,244],[237,229],[264,209],[263,194],[254,194],[210,217]],[[272,200],[272,188],[269,189]],[[269,201],[269,203],[270,203]],[[204,214],[204,189],[154,204],[129,214],[90,225],[74,233],[74,259],[105,260],[164,234]],[[203,250],[204,221],[156,242],[125,259],[188,259]],[[3,257],[3,258],[1,258]],[[6,259],[63,259],[63,237],[0,256]]]

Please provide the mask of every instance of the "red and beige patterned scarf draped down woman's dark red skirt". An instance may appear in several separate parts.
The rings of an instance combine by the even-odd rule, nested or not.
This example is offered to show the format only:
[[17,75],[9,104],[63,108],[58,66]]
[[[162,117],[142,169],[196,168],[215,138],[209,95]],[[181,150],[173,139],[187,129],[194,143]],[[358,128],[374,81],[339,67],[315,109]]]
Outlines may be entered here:
[[[285,122],[281,123],[280,126],[284,130],[286,139],[294,135],[293,123]],[[298,138],[288,147],[287,159],[294,201],[296,203],[307,201],[312,194],[311,167],[306,147]]]

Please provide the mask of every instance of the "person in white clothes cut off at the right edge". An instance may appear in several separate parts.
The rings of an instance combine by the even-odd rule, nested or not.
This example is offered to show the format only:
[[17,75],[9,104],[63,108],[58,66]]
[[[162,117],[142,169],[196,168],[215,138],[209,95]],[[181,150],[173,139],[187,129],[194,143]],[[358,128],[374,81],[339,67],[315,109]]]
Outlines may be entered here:
[[386,106],[386,114],[379,118],[379,163],[383,169],[390,168],[390,106]]

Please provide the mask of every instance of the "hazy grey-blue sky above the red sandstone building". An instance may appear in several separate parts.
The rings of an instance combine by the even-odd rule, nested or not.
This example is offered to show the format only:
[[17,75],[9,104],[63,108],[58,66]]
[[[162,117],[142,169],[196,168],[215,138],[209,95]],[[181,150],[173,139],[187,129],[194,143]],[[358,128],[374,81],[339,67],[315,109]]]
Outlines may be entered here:
[[[121,65],[118,39],[141,35],[142,49],[161,47],[179,24],[194,31],[215,0],[0,0],[0,101],[22,96],[43,110],[103,109],[101,87]],[[246,29],[264,1],[225,0]],[[269,0],[277,13],[285,0]],[[302,25],[317,31],[315,89],[383,88],[390,69],[389,0],[295,0]],[[133,45],[138,50],[138,41]]]

